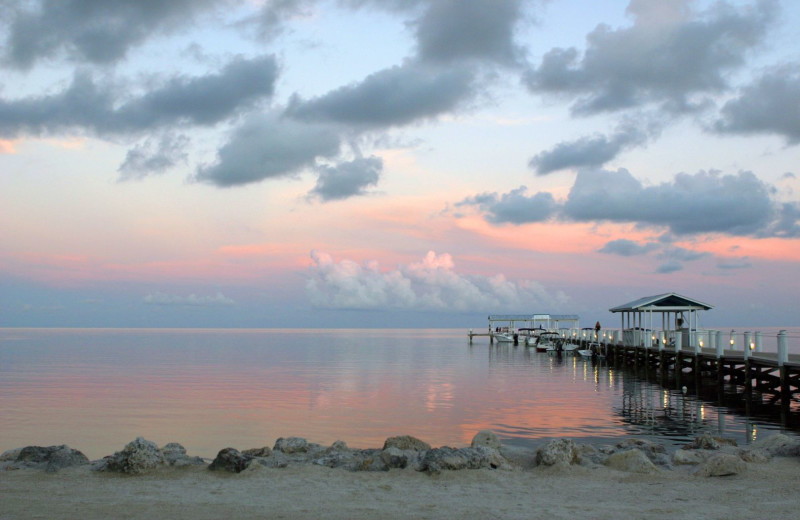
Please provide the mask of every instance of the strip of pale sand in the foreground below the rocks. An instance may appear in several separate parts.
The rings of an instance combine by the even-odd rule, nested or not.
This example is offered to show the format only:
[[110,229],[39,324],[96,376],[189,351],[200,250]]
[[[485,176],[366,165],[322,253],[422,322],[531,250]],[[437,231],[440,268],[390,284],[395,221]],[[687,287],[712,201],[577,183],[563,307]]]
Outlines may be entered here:
[[16,518],[798,518],[800,458],[748,463],[732,477],[691,468],[654,475],[609,468],[411,469],[352,473],[321,466],[241,474],[204,467],[140,476],[88,467],[0,472],[0,519]]

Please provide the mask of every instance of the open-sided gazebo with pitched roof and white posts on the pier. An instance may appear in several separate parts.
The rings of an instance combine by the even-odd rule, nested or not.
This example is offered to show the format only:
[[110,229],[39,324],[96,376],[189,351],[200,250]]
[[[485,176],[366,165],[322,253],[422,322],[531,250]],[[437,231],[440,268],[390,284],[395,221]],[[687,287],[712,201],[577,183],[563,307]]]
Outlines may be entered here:
[[[622,319],[622,342],[625,346],[645,346],[680,342],[694,346],[698,331],[698,312],[713,309],[711,305],[676,293],[646,296],[609,309]],[[657,314],[661,329],[656,329]],[[680,339],[677,339],[680,334]]]

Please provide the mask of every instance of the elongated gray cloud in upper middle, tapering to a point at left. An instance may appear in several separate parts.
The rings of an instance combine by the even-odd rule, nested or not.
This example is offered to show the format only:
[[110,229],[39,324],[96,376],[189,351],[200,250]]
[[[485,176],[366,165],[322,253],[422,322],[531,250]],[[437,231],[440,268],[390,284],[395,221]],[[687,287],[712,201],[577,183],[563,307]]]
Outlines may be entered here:
[[318,98],[295,97],[287,114],[362,127],[405,125],[454,110],[473,89],[473,74],[466,67],[439,69],[408,62]]

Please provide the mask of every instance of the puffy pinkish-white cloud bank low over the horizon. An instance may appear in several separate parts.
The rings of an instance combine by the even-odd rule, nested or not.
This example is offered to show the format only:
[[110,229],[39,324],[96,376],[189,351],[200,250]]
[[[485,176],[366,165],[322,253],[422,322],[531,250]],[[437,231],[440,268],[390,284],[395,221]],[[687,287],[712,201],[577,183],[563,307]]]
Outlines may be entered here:
[[558,308],[567,300],[562,292],[550,293],[535,281],[460,274],[446,253],[430,251],[420,262],[388,271],[374,261],[337,263],[319,251],[311,252],[311,260],[306,293],[321,308],[497,312]]

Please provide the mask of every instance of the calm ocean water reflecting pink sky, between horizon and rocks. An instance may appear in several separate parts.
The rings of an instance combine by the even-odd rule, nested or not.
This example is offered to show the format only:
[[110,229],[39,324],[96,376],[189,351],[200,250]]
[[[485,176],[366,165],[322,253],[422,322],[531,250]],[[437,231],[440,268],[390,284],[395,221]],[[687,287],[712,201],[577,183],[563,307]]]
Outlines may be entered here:
[[[800,353],[800,328],[788,330]],[[740,443],[797,435],[779,418],[624,369],[487,338],[470,345],[466,332],[0,329],[0,451],[68,444],[95,459],[137,436],[204,457],[286,436],[465,446],[482,429],[529,447],[551,437],[677,445],[705,431]]]

